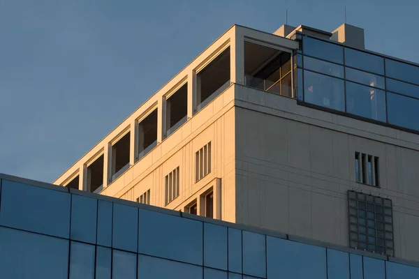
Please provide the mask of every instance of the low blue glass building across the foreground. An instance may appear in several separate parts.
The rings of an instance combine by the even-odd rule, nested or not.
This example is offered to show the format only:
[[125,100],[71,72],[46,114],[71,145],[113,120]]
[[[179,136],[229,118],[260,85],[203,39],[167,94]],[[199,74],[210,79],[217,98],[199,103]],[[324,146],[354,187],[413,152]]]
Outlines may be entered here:
[[0,193],[0,278],[419,278],[397,257],[13,176]]

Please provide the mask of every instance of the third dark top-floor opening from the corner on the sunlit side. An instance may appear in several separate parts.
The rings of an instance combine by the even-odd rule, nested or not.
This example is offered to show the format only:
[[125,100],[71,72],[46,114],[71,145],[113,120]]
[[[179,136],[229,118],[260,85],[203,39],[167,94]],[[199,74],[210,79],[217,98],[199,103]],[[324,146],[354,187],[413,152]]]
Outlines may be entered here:
[[138,123],[138,160],[157,145],[157,110]]

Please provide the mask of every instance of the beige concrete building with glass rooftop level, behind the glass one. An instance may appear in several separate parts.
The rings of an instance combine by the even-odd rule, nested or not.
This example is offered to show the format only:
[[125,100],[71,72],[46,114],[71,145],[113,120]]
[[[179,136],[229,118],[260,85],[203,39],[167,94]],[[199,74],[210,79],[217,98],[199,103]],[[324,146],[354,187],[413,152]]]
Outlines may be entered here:
[[419,65],[364,41],[234,25],[54,184],[419,261]]

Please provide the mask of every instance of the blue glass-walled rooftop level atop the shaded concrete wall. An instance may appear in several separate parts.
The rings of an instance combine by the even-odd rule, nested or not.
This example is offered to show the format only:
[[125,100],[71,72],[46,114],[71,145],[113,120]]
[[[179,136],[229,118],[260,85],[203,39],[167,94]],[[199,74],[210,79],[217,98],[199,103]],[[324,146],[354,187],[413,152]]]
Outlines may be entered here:
[[302,34],[298,99],[419,131],[419,67]]

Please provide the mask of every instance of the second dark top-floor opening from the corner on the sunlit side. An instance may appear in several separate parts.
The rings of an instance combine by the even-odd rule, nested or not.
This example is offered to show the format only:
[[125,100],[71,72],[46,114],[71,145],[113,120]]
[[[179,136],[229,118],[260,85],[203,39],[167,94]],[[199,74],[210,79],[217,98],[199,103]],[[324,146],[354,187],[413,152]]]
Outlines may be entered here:
[[188,84],[166,100],[166,137],[182,126],[188,114]]

